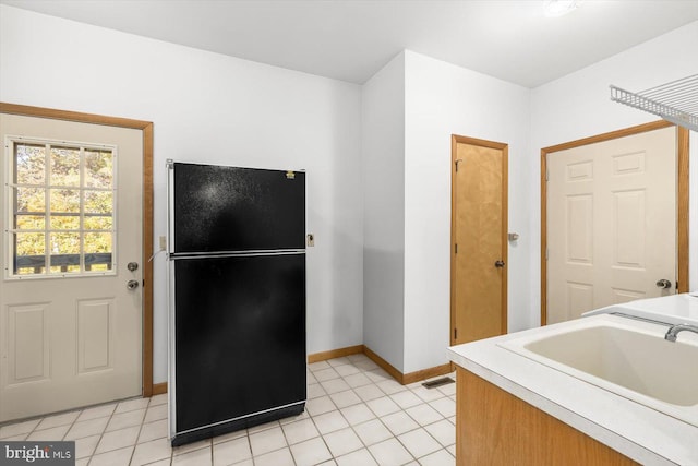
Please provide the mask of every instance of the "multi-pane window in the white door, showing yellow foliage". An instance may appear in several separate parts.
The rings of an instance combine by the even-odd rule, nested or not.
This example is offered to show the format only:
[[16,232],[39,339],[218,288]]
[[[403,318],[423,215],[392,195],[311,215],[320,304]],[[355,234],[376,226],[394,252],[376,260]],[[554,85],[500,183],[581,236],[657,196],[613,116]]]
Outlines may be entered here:
[[9,138],[8,278],[116,273],[116,147]]

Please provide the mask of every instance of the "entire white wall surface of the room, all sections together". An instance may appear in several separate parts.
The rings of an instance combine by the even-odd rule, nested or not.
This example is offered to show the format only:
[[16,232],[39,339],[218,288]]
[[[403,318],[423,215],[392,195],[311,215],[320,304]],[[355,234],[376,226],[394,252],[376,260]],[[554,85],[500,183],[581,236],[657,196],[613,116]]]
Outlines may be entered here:
[[[640,91],[698,73],[697,43],[694,22],[532,92],[406,51],[361,88],[0,5],[0,100],[154,121],[156,242],[167,158],[306,169],[309,353],[365,343],[407,373],[447,360],[450,134],[509,144],[509,231],[521,234],[509,243],[509,330],[534,326],[540,148],[657,120],[611,103],[609,84]],[[698,289],[695,132],[690,144]],[[160,382],[161,255],[154,287]]]

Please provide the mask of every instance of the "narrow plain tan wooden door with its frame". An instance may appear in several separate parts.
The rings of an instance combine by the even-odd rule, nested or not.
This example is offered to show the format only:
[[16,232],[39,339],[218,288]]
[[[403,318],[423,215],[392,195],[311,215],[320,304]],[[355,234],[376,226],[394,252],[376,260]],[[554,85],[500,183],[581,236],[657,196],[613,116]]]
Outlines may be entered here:
[[507,145],[452,138],[452,345],[507,331]]

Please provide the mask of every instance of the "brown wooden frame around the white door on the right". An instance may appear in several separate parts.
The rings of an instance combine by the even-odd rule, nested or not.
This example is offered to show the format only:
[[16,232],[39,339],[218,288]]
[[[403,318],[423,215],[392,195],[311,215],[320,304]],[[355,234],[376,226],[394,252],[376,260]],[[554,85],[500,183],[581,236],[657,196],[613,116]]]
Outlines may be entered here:
[[[568,148],[595,144],[662,128],[676,127],[669,121],[660,120],[623,130],[611,131],[590,138],[583,138],[550,147],[541,148],[541,325],[547,324],[547,155]],[[676,210],[677,210],[677,282],[678,292],[688,291],[688,130],[677,127],[677,159],[676,159]]]

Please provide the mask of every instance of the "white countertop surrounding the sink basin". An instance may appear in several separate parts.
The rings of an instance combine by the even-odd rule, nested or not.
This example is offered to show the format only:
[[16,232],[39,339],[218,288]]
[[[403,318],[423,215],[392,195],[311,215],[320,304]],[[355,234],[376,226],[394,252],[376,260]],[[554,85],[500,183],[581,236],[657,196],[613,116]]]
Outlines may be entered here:
[[[698,301],[698,298],[690,298]],[[645,310],[654,312],[657,318],[655,309]],[[625,311],[634,313],[627,307]],[[587,319],[625,318],[594,315]],[[679,320],[685,321],[685,316]],[[698,427],[498,346],[524,335],[559,331],[568,324],[454,346],[448,349],[449,357],[458,366],[638,463],[698,466]]]

